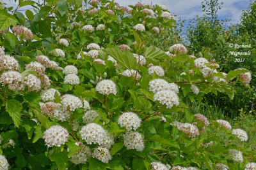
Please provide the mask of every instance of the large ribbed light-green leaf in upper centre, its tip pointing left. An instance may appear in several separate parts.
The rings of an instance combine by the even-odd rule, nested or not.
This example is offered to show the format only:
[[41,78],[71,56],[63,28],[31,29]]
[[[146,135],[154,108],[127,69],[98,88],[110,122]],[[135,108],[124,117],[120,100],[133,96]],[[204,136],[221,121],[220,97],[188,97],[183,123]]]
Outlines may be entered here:
[[117,64],[125,69],[134,69],[136,67],[136,58],[127,50],[122,52],[119,48],[107,48],[104,52],[113,57]]

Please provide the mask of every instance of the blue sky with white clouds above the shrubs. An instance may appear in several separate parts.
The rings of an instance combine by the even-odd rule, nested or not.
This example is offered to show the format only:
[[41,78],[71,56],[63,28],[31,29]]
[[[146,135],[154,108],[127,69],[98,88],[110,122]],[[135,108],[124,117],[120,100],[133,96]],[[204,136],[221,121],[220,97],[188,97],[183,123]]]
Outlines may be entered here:
[[[181,20],[188,20],[195,17],[195,15],[202,16],[204,12],[202,12],[202,0],[115,0],[121,6],[128,6],[130,4],[136,4],[138,1],[141,3],[147,4],[165,4],[167,9],[174,15],[177,15],[176,18],[181,18]],[[220,19],[231,19],[229,24],[236,24],[239,21],[241,13],[243,10],[246,10],[253,0],[220,0],[224,4],[221,10],[218,13]],[[7,6],[17,6],[17,2],[14,0],[3,0]],[[28,8],[28,6],[24,8],[20,8],[20,10],[24,10]],[[22,12],[22,11],[21,11]]]

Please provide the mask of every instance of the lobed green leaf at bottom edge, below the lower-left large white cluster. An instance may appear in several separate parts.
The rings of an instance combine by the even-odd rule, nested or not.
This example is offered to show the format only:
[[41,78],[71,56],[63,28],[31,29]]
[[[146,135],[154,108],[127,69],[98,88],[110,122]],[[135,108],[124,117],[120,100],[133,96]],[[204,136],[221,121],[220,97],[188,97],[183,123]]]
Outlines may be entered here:
[[68,165],[68,152],[63,150],[61,152],[60,147],[54,148],[54,152],[51,155],[51,160],[56,162],[59,170],[65,170]]

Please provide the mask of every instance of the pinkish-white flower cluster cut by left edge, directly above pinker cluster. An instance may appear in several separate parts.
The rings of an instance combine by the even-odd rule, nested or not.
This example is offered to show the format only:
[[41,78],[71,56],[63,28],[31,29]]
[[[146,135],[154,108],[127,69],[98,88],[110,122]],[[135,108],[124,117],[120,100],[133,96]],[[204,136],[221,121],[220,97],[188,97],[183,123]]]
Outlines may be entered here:
[[10,55],[0,55],[0,70],[15,70],[19,71],[19,62]]

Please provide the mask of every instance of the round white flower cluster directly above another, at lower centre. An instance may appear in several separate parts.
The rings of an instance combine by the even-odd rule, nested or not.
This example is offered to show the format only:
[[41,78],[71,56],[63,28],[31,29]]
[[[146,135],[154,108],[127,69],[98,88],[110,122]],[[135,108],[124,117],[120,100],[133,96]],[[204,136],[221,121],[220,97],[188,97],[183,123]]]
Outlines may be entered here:
[[131,131],[132,128],[134,131],[140,127],[141,124],[141,118],[138,117],[135,113],[132,112],[125,112],[117,120],[117,123],[120,125],[120,127],[125,127],[127,131]]

